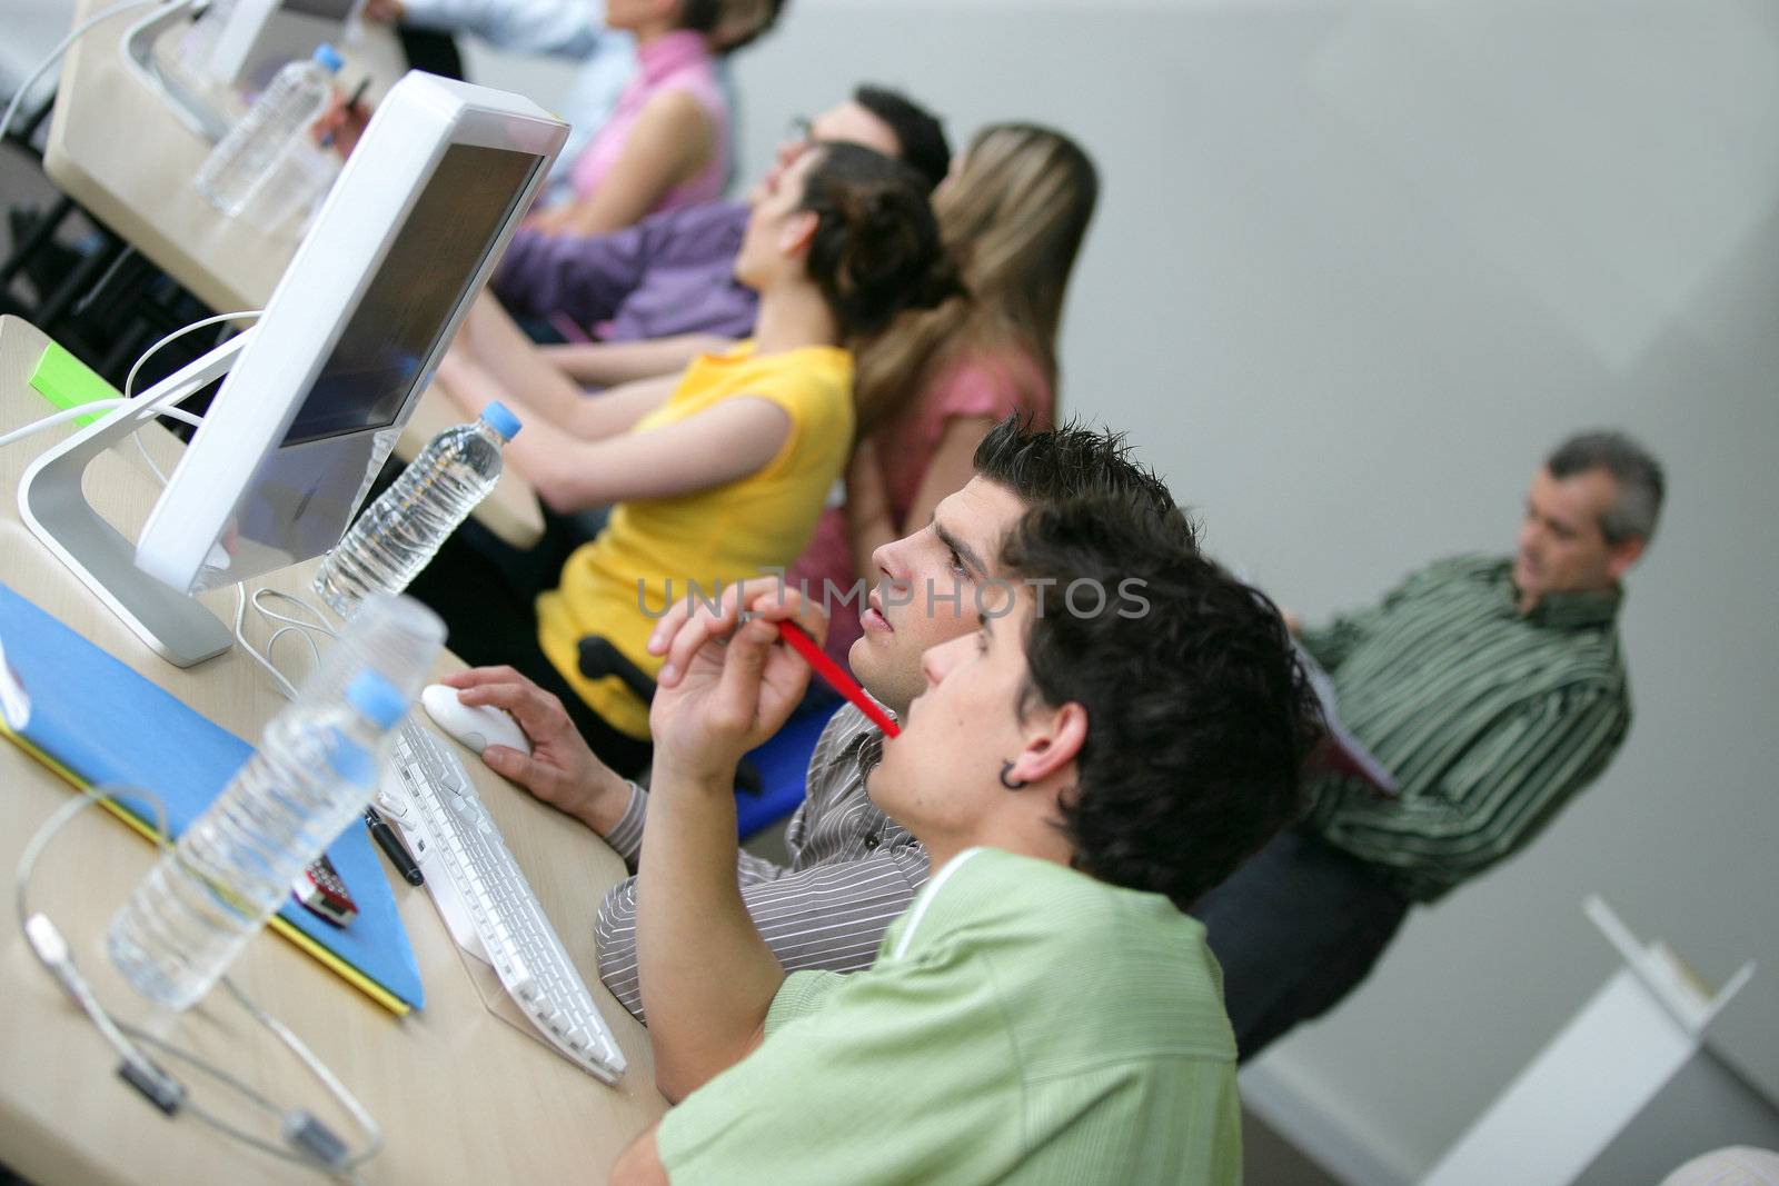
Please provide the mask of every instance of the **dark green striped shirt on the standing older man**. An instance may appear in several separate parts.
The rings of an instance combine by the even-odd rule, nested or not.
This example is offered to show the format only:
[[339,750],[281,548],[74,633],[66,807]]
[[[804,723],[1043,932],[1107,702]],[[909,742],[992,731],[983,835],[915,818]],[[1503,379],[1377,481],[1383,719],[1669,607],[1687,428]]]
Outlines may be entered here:
[[1532,841],[1631,724],[1617,589],[1516,608],[1512,562],[1441,560],[1304,631],[1347,727],[1397,777],[1386,800],[1318,779],[1309,827],[1432,902]]

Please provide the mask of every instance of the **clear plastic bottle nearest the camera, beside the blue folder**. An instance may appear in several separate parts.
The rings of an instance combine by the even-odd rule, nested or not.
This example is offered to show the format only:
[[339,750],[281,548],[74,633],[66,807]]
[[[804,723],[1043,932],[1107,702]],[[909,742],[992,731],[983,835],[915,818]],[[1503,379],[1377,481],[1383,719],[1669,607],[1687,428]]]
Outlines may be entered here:
[[105,946],[125,980],[169,1008],[196,1005],[290,896],[290,880],[372,800],[409,702],[363,670],[343,699],[299,699],[274,717],[258,752],[112,918]]

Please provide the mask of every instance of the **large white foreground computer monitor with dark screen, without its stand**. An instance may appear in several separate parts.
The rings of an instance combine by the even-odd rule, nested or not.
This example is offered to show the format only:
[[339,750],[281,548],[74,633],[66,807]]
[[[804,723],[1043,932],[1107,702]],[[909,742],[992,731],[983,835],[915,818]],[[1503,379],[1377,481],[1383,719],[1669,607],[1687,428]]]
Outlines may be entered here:
[[377,107],[135,549],[183,592],[333,548],[566,124],[409,73]]

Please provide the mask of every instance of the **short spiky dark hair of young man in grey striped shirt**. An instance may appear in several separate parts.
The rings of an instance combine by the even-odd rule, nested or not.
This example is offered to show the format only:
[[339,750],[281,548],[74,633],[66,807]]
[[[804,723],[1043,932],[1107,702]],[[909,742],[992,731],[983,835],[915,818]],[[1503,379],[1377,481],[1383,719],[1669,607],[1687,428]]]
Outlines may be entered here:
[[1005,485],[1028,505],[1092,494],[1130,496],[1169,519],[1187,542],[1195,541],[1167,484],[1155,469],[1130,459],[1123,432],[1091,429],[1080,420],[1034,432],[1032,420],[1014,413],[989,429],[973,461],[980,477]]

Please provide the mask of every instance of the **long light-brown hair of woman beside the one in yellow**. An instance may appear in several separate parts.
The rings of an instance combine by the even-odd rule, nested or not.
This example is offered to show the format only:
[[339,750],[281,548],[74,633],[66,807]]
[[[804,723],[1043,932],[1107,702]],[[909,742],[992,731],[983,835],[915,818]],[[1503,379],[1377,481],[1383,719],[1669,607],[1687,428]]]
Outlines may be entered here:
[[964,352],[1019,349],[1057,381],[1069,272],[1099,196],[1082,148],[1050,128],[989,124],[934,197],[939,233],[968,295],[906,311],[857,349],[859,437]]

